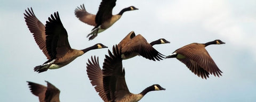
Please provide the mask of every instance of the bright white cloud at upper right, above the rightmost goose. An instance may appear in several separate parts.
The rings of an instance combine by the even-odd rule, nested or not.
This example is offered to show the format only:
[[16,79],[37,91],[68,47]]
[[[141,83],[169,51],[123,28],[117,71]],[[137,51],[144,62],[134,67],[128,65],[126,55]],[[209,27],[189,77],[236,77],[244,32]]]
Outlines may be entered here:
[[[159,19],[163,22],[175,24],[199,23],[202,30],[214,33],[228,41],[236,48],[250,50],[256,57],[256,43],[253,35],[255,29],[247,29],[248,26],[256,27],[256,19],[253,14],[241,15],[237,13],[235,7],[229,6],[226,1],[175,1],[166,3],[159,8]],[[254,16],[254,17],[253,17]],[[249,25],[246,25],[247,23]],[[249,30],[249,31],[248,31]],[[211,35],[209,35],[211,36]]]

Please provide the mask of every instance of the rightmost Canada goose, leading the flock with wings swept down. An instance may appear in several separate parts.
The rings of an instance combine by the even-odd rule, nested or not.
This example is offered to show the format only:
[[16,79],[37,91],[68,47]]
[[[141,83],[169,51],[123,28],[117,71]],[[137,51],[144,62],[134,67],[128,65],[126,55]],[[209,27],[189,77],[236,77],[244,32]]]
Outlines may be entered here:
[[206,79],[206,77],[209,78],[209,72],[219,77],[222,72],[205,49],[206,46],[212,44],[225,43],[221,40],[214,40],[205,44],[192,43],[175,50],[171,55],[166,56],[166,58],[177,58],[180,62],[186,64],[189,70],[203,79]]

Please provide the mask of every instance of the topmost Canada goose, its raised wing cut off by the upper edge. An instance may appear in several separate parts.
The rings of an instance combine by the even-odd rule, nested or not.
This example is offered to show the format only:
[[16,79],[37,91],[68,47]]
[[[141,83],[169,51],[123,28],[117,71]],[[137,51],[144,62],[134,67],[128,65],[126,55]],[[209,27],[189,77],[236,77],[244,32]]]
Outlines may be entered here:
[[117,20],[121,18],[124,12],[139,10],[134,6],[130,6],[130,7],[123,8],[123,10],[121,10],[116,15],[112,15],[112,10],[115,7],[115,5],[116,5],[116,0],[102,0],[96,15],[88,13],[85,10],[84,4],[83,6],[80,5],[80,7],[76,8],[75,10],[76,17],[80,21],[94,26],[91,33],[87,35],[87,37],[90,36],[89,40],[94,39],[95,37],[97,37],[98,33],[111,27],[111,25],[113,25]]

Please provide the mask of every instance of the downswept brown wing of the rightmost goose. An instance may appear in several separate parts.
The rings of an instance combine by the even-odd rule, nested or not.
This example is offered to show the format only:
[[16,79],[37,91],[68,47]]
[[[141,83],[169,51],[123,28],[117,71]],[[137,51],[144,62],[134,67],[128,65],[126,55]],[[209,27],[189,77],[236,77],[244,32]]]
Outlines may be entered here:
[[[186,64],[192,72],[196,73],[197,75],[201,75],[201,77],[202,75],[206,75],[209,73],[213,74],[214,76],[217,75],[219,77],[219,75],[221,75],[222,73],[218,66],[215,64],[215,62],[212,60],[212,57],[209,55],[205,47],[202,45],[193,43],[189,46],[178,49],[176,52],[183,56],[186,56],[186,58],[188,58],[190,61],[182,61],[180,59],[178,60],[183,63],[186,62],[184,64]],[[198,71],[201,73],[199,73]],[[206,79],[206,77],[204,78]]]

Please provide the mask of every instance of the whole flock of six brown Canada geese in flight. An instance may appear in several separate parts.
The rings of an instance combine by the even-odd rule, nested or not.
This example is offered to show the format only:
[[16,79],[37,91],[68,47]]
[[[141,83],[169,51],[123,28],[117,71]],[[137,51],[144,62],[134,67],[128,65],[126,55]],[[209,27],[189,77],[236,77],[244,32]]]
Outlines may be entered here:
[[[75,9],[75,16],[80,21],[94,26],[87,35],[89,40],[94,39],[98,33],[111,27],[121,18],[124,12],[138,10],[134,6],[129,6],[123,8],[118,14],[113,15],[112,10],[115,5],[116,0],[102,0],[96,15],[87,12],[84,4]],[[101,43],[81,50],[71,48],[68,41],[68,33],[62,25],[59,12],[51,14],[45,25],[37,19],[32,8],[25,10],[24,15],[25,22],[30,32],[33,33],[36,44],[47,58],[46,62],[34,67],[35,72],[42,73],[48,69],[59,69],[92,49],[108,48]],[[125,82],[125,70],[122,61],[129,60],[129,58],[137,55],[151,61],[177,58],[191,72],[202,79],[209,78],[210,74],[220,77],[222,71],[215,64],[205,47],[213,44],[225,44],[223,41],[217,39],[205,44],[191,43],[175,50],[169,56],[159,53],[153,47],[157,44],[169,43],[170,41],[164,38],[148,43],[142,35],[135,35],[135,32],[131,31],[120,43],[113,44],[112,50],[108,49],[108,55],[105,55],[104,60],[99,60],[99,57],[93,55],[91,59],[88,59],[86,66],[88,78],[103,101],[133,102],[139,101],[149,91],[165,90],[159,84],[153,84],[142,90],[139,94],[132,94],[129,91]],[[99,65],[101,61],[103,61],[102,68]],[[60,90],[50,82],[45,81],[47,87],[38,83],[27,82],[30,91],[35,96],[38,96],[40,102],[60,101]]]

